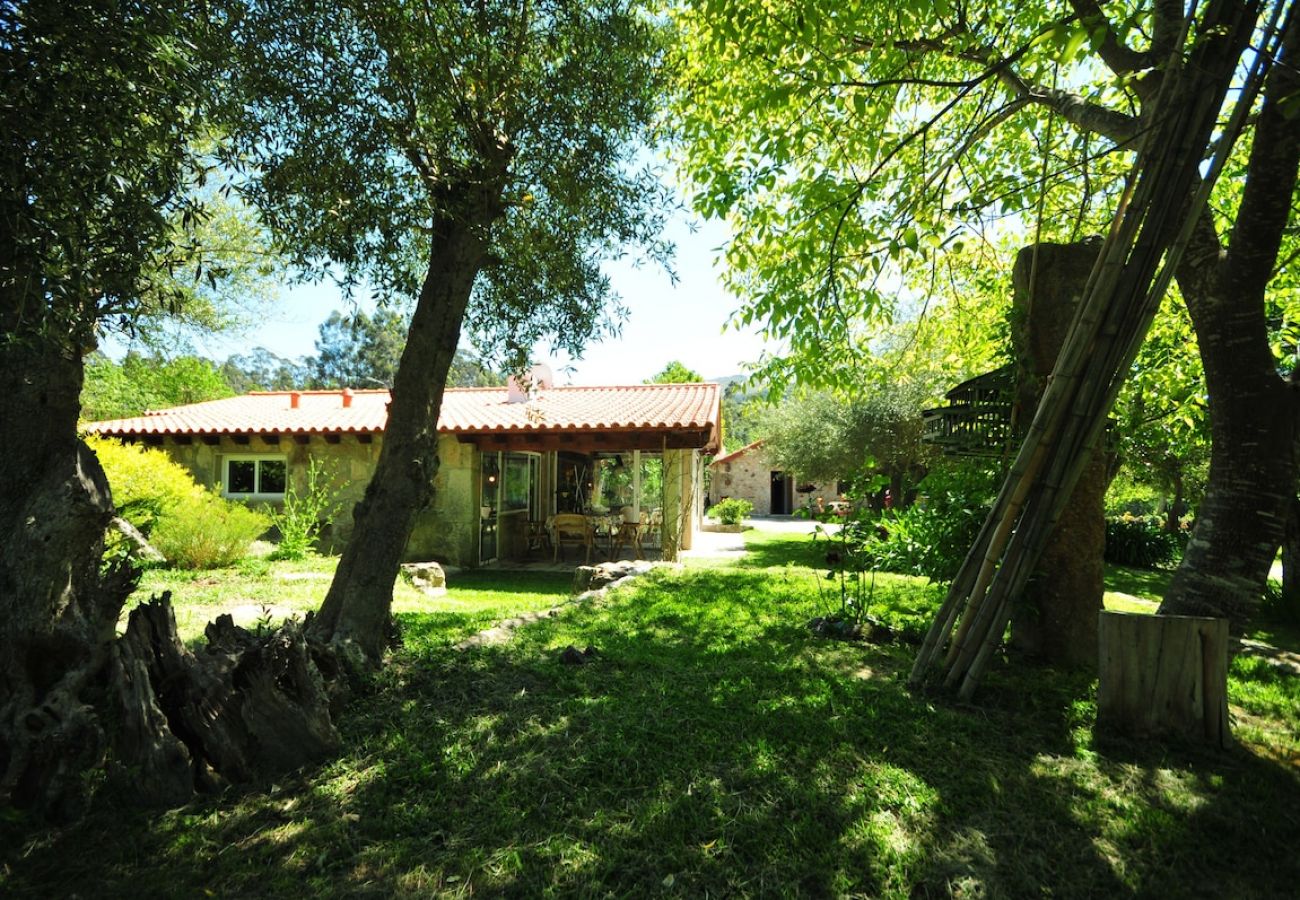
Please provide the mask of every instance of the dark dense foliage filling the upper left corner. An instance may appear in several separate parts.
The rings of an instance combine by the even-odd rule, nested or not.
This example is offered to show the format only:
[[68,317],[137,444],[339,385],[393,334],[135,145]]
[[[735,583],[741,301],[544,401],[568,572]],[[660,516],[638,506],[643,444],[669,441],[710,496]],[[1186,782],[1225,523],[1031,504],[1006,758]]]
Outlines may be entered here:
[[172,273],[222,273],[200,234],[212,25],[187,1],[0,9],[5,333],[21,310],[25,330],[82,354],[96,326],[183,313]]

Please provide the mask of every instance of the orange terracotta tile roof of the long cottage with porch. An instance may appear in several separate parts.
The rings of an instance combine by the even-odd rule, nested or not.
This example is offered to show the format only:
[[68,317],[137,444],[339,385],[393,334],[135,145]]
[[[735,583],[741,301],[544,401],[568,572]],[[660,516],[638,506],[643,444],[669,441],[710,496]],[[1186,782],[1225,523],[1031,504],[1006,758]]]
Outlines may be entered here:
[[[348,399],[350,398],[350,399]],[[718,385],[550,388],[526,403],[507,402],[504,388],[452,388],[442,398],[439,432],[576,432],[708,429],[718,446]],[[344,407],[344,399],[348,406]],[[143,434],[380,433],[386,390],[255,391],[205,403],[153,410],[133,419],[94,421],[86,430]]]

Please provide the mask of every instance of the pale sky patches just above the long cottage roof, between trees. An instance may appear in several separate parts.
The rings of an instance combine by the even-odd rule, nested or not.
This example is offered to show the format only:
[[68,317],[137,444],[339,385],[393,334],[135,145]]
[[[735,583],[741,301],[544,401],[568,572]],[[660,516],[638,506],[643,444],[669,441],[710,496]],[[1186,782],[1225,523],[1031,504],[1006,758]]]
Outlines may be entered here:
[[[540,347],[536,362],[551,365],[559,384],[634,384],[649,378],[668,360],[680,359],[707,378],[737,375],[764,346],[757,330],[737,332],[724,324],[740,303],[722,286],[715,259],[727,238],[720,222],[702,222],[692,232],[686,213],[668,226],[676,245],[677,282],[654,267],[616,261],[610,278],[629,310],[618,339],[593,345],[571,360]],[[346,302],[330,284],[281,289],[280,298],[257,328],[237,337],[199,341],[199,352],[214,359],[264,346],[281,356],[315,352],[320,323]],[[566,365],[572,372],[563,372]]]

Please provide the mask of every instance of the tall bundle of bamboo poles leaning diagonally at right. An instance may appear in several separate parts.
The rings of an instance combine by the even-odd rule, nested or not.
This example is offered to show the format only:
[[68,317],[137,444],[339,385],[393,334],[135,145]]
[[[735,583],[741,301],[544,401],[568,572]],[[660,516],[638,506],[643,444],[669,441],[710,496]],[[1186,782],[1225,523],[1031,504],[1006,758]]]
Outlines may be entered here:
[[[1282,5],[1274,12],[1269,40],[1277,39],[1274,26]],[[913,666],[913,685],[927,680],[942,654],[944,687],[968,698],[1001,644],[1011,603],[1034,572],[1104,433],[1192,228],[1244,126],[1251,98],[1262,83],[1270,52],[1256,55],[1243,96],[1201,178],[1201,156],[1256,12],[1256,4],[1212,0],[1199,34],[1219,29],[1219,39],[1201,39],[1186,68],[1175,56],[1166,70],[1150,126],[1140,139],[1132,174],[1065,346],[993,509],[926,635]]]

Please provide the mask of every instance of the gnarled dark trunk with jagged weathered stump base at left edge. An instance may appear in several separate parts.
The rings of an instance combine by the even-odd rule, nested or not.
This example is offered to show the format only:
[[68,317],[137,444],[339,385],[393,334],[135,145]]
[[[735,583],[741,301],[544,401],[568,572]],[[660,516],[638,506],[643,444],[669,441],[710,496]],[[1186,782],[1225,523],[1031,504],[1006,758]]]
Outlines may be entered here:
[[[10,320],[12,321],[12,320]],[[9,323],[5,323],[6,325]],[[148,805],[196,787],[296,769],[337,745],[317,662],[289,626],[254,636],[209,626],[194,655],[166,600],[131,613],[129,564],[101,568],[114,510],[77,437],[81,355],[46,334],[0,341],[0,805],[74,818],[87,770]],[[52,346],[53,345],[53,346]]]

